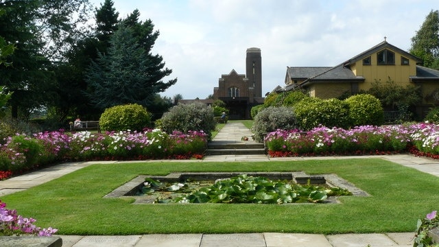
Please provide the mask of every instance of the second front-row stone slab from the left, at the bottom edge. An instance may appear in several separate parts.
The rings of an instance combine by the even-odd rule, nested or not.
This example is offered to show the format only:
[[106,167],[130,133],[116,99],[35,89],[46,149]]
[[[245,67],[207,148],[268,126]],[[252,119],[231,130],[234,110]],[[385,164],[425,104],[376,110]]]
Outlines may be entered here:
[[72,247],[132,247],[141,237],[141,235],[85,236]]

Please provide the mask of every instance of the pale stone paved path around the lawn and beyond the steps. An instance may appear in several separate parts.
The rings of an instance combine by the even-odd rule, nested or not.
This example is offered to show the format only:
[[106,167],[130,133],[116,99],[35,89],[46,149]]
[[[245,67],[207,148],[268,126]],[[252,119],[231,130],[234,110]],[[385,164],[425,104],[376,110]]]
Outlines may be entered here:
[[[241,137],[251,137],[251,132],[241,123],[229,122],[217,134],[213,141],[217,143],[248,143],[241,141]],[[429,158],[420,158],[407,154],[389,156],[343,156],[343,157],[289,157],[289,158],[268,158],[265,155],[218,155],[207,156],[202,161],[181,161],[181,162],[211,162],[211,161],[298,161],[305,159],[340,159],[340,158],[383,158],[394,163],[399,163],[407,167],[413,167],[421,172],[439,176],[439,161]],[[53,180],[64,174],[69,174],[77,169],[93,165],[95,163],[117,163],[118,161],[102,162],[79,162],[63,163],[41,169],[36,172],[17,176],[8,180],[0,181],[1,196],[16,191],[28,189],[40,185],[49,180]],[[156,161],[145,161],[156,162]],[[174,162],[174,161],[172,161]],[[60,235],[63,247],[73,246],[155,246],[155,247],[280,247],[280,246],[312,246],[312,247],[390,247],[413,245],[414,233],[370,233],[370,234],[302,234],[302,233],[246,233],[246,234],[151,234],[151,235],[129,235],[129,236],[76,236]]]

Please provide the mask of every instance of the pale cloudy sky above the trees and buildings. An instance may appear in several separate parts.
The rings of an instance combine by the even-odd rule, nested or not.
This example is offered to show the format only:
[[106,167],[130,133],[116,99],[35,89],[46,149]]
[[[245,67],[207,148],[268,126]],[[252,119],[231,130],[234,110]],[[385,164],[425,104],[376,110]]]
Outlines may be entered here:
[[[99,7],[104,0],[91,0]],[[172,69],[162,95],[205,99],[222,74],[245,74],[259,47],[262,94],[284,86],[287,66],[335,66],[381,43],[405,51],[438,0],[113,0],[119,17],[138,9],[160,36],[153,54]]]

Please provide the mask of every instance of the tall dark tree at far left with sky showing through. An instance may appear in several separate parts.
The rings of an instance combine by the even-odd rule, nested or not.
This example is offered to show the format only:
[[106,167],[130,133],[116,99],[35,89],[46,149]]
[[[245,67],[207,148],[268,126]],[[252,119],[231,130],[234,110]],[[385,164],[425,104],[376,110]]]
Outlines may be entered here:
[[[9,67],[0,67],[1,84],[14,91],[12,117],[25,118],[32,109],[46,105],[54,89],[53,62],[64,59],[74,46],[80,23],[86,20],[88,0],[0,1],[0,36],[14,44]],[[82,11],[84,10],[84,11]]]

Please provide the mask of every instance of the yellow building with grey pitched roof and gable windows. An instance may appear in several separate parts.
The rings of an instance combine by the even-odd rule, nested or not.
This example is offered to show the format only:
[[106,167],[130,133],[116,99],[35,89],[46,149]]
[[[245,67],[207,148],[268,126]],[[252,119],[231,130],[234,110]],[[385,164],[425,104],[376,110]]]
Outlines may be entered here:
[[311,97],[329,99],[367,91],[375,81],[389,79],[403,87],[420,86],[423,103],[418,115],[439,103],[439,71],[420,66],[416,56],[386,40],[335,67],[287,67],[285,91],[305,89]]

